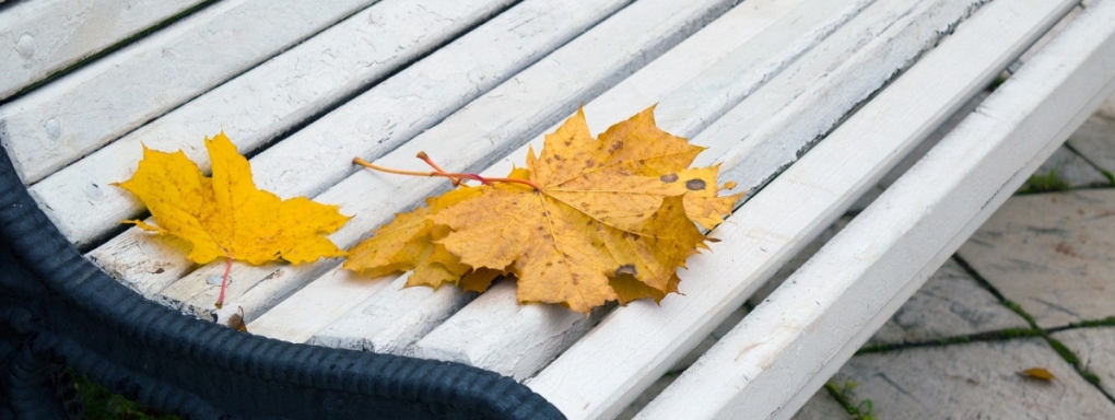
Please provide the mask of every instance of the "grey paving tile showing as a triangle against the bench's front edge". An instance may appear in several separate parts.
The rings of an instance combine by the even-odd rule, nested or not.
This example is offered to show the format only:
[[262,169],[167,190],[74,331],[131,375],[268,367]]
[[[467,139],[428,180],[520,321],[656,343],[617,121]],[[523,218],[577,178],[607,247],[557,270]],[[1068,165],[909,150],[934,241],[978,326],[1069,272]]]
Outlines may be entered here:
[[1026,319],[1000,304],[960,265],[949,259],[867,343],[919,343],[1028,327]]

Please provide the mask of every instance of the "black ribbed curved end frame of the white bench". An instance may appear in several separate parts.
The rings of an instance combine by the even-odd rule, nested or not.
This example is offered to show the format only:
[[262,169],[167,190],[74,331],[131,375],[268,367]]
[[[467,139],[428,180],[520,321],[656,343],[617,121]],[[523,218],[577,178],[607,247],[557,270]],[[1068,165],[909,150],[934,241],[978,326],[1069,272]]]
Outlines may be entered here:
[[494,372],[280,342],[149,302],[81,257],[2,149],[0,238],[0,419],[80,418],[66,366],[186,418],[563,418]]

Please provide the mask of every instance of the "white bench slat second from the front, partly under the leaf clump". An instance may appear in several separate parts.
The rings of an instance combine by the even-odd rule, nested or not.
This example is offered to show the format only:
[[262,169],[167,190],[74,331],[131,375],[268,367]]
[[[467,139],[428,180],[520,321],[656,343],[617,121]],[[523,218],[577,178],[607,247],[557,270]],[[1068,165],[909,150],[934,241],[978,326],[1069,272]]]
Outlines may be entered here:
[[1072,6],[983,7],[720,225],[683,295],[618,308],[526,384],[572,419],[615,416]]

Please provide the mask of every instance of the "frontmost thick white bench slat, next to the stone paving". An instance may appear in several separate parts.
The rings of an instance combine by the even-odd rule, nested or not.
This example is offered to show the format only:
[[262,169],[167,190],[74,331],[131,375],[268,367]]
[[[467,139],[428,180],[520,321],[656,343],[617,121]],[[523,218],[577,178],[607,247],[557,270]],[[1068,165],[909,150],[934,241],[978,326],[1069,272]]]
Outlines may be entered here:
[[1115,92],[1112,57],[1097,0],[639,417],[789,418]]

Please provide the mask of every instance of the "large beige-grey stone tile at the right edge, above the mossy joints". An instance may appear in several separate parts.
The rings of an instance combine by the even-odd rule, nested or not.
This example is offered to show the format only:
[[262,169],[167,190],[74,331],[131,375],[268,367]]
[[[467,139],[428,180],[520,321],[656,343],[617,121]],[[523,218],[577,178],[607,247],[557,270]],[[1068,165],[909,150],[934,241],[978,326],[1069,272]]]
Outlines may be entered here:
[[1041,327],[1115,315],[1115,189],[1012,197],[958,255]]

